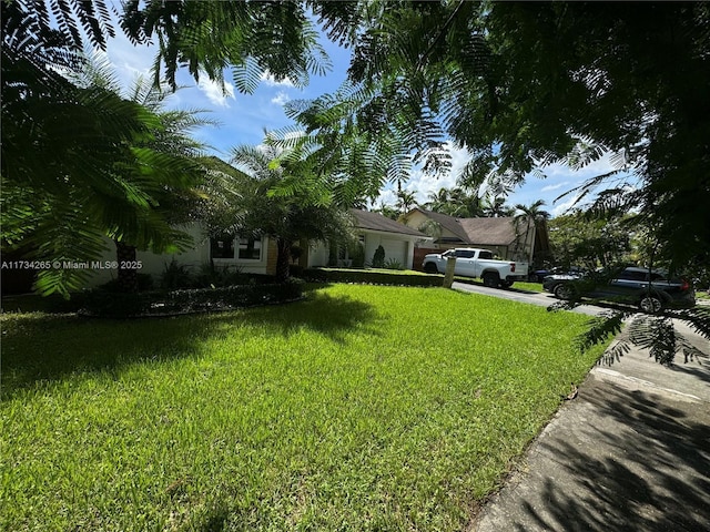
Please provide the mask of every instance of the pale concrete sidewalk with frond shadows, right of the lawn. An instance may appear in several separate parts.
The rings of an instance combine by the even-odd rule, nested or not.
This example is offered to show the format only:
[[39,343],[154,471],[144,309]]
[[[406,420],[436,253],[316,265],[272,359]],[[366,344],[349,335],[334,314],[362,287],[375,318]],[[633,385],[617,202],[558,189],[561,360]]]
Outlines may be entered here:
[[469,531],[710,531],[710,345],[597,366]]

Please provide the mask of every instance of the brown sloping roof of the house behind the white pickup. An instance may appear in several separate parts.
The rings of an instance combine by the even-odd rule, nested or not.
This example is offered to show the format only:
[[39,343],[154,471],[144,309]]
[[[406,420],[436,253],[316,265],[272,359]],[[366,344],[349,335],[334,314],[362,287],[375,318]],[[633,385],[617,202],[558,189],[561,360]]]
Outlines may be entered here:
[[418,207],[415,211],[455,234],[464,244],[509,246],[516,239],[513,218],[456,218]]

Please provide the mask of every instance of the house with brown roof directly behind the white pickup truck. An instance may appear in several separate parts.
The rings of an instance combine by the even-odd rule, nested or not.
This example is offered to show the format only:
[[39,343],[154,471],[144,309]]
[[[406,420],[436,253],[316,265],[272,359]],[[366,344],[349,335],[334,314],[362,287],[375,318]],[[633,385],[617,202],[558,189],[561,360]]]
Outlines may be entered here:
[[510,217],[457,218],[416,207],[404,216],[405,223],[433,235],[433,243],[422,245],[415,253],[414,267],[422,266],[428,253],[442,253],[453,247],[483,247],[503,259],[534,264],[549,253],[547,224],[517,221]]

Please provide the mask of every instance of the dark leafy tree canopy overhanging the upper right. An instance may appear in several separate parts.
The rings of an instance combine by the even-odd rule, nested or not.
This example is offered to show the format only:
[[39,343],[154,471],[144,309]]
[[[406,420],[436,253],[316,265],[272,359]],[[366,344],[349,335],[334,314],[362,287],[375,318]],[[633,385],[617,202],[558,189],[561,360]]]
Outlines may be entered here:
[[[549,163],[612,154],[616,170],[578,191],[597,211],[653,221],[667,258],[710,253],[708,4],[367,2],[337,94],[292,105],[325,149],[356,139],[363,157],[407,172],[447,168],[453,139],[471,158],[468,185],[491,173],[520,183]],[[384,155],[383,155],[384,154]],[[353,176],[357,178],[357,176]],[[640,186],[631,187],[639,180]]]

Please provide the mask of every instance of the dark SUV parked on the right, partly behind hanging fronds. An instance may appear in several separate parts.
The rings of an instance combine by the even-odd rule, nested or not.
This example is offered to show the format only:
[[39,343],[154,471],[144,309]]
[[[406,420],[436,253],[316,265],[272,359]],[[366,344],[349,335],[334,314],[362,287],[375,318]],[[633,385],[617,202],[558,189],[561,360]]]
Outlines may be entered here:
[[[650,287],[649,287],[650,280]],[[659,269],[627,267],[615,275],[596,272],[581,277],[550,275],[542,288],[559,299],[575,295],[638,306],[647,313],[661,308],[691,308],[696,305],[692,285],[682,279],[669,278]]]

